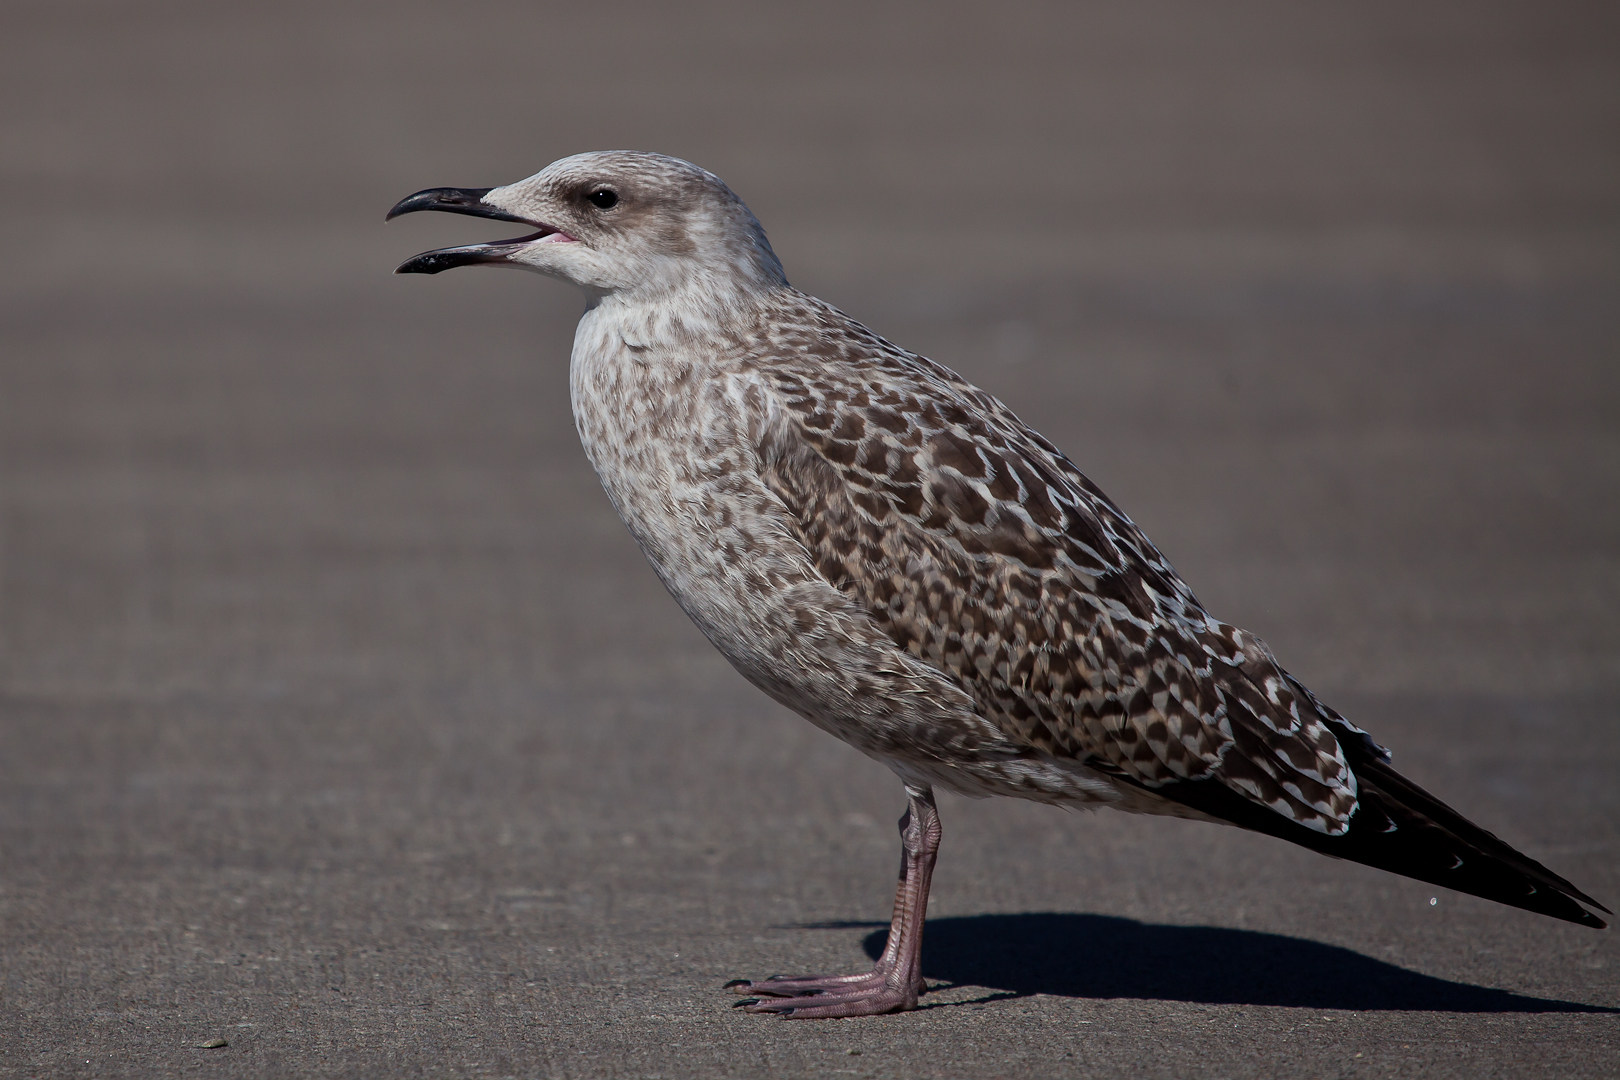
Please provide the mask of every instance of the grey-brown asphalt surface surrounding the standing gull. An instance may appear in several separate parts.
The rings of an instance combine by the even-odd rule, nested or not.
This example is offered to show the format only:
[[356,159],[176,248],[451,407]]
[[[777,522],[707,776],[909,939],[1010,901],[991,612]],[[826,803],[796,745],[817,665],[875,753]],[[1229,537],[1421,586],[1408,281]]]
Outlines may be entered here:
[[[943,800],[747,687],[575,442],[580,301],[400,196],[724,176],[1413,779],[1620,900],[1614,5],[11,3],[0,1077],[1614,1077],[1620,947]],[[212,1040],[228,1044],[199,1049]]]

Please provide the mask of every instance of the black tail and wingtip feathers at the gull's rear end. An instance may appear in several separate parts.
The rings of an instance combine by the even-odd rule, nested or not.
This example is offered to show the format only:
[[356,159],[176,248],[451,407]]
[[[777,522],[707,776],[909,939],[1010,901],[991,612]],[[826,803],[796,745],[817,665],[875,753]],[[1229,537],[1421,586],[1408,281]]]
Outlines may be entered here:
[[1458,892],[1602,929],[1581,904],[1602,904],[1528,855],[1473,824],[1382,758],[1343,740],[1361,795],[1349,831],[1324,836],[1260,806],[1218,780],[1166,784],[1155,795],[1244,829]]

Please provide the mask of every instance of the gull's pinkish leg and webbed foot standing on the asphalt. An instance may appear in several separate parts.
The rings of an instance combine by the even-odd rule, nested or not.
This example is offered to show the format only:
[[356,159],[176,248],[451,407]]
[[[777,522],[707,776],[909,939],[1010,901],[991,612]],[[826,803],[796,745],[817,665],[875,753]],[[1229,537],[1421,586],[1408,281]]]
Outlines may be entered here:
[[737,1002],[740,1007],[795,1020],[870,1017],[917,1007],[919,994],[928,989],[922,980],[922,923],[928,915],[928,882],[940,850],[940,811],[927,787],[907,784],[906,795],[910,801],[901,818],[901,881],[894,891],[894,921],[889,923],[889,941],[873,968],[862,975],[776,975],[758,983],[726,983],[739,994],[750,994]]

